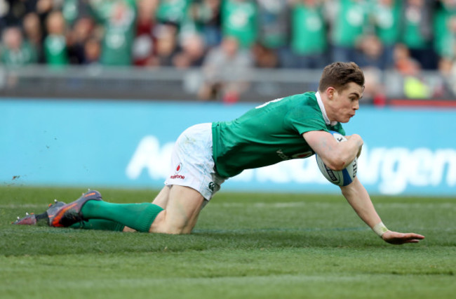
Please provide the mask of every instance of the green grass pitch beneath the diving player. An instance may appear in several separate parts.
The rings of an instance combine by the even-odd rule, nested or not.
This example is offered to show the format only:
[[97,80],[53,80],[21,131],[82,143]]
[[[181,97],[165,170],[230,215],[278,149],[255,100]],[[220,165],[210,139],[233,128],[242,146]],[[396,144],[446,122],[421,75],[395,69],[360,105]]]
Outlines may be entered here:
[[[220,192],[194,233],[13,226],[83,190],[0,187],[1,298],[454,298],[456,199],[373,197],[384,243],[342,196]],[[112,202],[149,190],[104,190]]]

